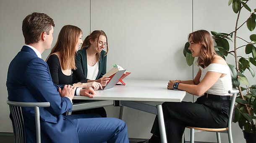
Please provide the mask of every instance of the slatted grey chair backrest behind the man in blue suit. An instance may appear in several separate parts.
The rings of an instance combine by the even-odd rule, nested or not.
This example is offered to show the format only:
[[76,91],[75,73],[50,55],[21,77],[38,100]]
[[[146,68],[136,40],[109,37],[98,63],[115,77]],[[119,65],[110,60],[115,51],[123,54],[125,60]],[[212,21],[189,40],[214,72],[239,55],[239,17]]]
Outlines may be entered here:
[[16,143],[26,143],[26,133],[21,107],[34,107],[37,143],[41,143],[39,107],[50,107],[49,102],[15,102],[7,100],[10,113],[13,117],[13,125]]

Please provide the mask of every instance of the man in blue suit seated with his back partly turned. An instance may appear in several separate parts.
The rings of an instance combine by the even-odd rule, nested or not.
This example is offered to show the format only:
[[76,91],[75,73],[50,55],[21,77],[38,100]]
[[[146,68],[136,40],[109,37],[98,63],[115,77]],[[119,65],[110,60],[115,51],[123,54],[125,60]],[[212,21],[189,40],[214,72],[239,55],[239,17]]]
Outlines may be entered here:
[[[25,43],[11,61],[6,86],[8,99],[20,102],[50,102],[39,108],[42,143],[129,143],[127,127],[116,118],[93,118],[97,115],[62,115],[72,109],[74,94],[93,98],[92,88],[77,89],[52,82],[48,65],[41,58],[52,44],[52,18],[32,13],[22,23]],[[22,108],[26,142],[35,143],[34,109]]]

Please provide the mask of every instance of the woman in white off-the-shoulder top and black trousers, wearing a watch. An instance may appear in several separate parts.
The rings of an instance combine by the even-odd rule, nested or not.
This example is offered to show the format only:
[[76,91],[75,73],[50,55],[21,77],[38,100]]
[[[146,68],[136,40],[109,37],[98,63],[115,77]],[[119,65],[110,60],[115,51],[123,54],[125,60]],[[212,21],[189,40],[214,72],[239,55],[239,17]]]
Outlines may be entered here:
[[[200,96],[192,102],[165,102],[162,110],[168,143],[181,143],[185,126],[201,128],[227,127],[232,80],[226,61],[214,50],[212,36],[198,30],[188,36],[193,57],[198,57],[199,71],[193,80],[170,80],[167,89],[184,90]],[[160,143],[157,118],[155,118],[149,143]],[[145,141],[144,141],[145,142]],[[141,142],[143,143],[143,142]]]

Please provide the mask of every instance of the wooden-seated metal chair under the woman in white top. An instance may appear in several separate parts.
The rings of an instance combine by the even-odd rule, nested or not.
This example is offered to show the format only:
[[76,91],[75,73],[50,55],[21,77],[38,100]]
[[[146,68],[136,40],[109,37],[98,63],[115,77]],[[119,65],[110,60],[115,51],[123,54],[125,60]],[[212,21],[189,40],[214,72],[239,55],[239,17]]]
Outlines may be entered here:
[[220,133],[227,133],[229,143],[233,143],[232,132],[231,132],[232,114],[233,114],[233,110],[234,110],[234,106],[235,106],[235,98],[237,96],[237,93],[239,93],[239,90],[233,89],[233,90],[228,91],[228,93],[233,94],[233,95],[232,95],[232,99],[231,99],[231,103],[230,103],[230,112],[229,112],[227,128],[197,128],[197,127],[186,126],[186,128],[190,128],[190,143],[194,143],[194,129],[204,130],[204,131],[209,131],[209,132],[216,132],[217,143],[221,143],[220,142]]

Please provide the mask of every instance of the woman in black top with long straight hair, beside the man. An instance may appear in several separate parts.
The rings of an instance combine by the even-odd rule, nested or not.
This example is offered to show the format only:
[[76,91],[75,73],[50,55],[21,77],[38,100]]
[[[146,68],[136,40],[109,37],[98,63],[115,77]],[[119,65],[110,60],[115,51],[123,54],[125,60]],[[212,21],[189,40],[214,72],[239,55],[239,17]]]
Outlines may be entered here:
[[[49,65],[52,80],[57,85],[73,85],[80,88],[101,88],[100,83],[87,83],[82,71],[76,67],[75,53],[83,43],[82,30],[73,25],[65,25],[60,30],[57,43],[52,48],[46,62]],[[78,79],[73,83],[73,75]]]

